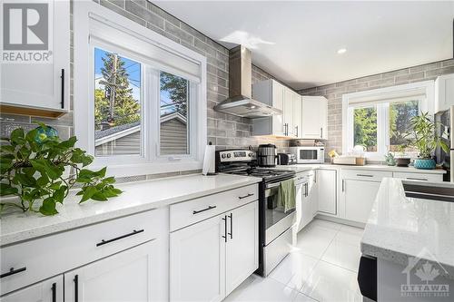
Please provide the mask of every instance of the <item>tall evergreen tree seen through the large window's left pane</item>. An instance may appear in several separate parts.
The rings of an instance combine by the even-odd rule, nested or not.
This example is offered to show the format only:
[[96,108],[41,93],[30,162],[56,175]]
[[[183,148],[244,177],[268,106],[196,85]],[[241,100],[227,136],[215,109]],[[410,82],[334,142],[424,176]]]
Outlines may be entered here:
[[[116,56],[116,60],[115,60]],[[116,61],[116,63],[114,63]],[[104,82],[114,83],[114,115],[110,116],[110,99],[108,95],[112,93],[111,87],[105,85],[104,89],[95,89],[94,91],[94,121],[95,129],[101,130],[103,122],[109,123],[111,127],[123,125],[126,123],[140,122],[141,105],[139,100],[133,98],[133,88],[128,81],[129,74],[126,72],[124,61],[117,54],[106,53],[103,57],[104,67],[101,73]],[[116,68],[114,68],[116,65]],[[116,71],[115,71],[116,70]]]

